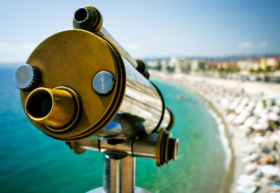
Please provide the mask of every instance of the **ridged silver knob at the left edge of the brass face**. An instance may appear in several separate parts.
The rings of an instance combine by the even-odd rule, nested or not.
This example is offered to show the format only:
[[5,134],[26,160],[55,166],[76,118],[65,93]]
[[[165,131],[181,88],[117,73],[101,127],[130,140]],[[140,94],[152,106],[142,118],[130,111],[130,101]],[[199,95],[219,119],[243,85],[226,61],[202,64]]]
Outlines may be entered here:
[[22,65],[15,71],[13,83],[21,90],[34,90],[41,83],[41,72],[35,66]]

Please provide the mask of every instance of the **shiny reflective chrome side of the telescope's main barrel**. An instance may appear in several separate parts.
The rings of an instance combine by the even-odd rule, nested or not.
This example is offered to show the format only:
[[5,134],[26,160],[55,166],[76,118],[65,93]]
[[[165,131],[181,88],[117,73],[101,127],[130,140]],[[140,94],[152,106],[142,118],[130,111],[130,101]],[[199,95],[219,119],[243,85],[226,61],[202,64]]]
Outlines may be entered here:
[[[129,136],[151,134],[162,116],[162,109],[164,108],[162,99],[158,90],[141,73],[136,71],[125,58],[123,58],[123,62],[127,82],[125,97],[116,116],[116,121],[125,128],[123,134]],[[137,124],[137,127],[135,127],[135,124]]]

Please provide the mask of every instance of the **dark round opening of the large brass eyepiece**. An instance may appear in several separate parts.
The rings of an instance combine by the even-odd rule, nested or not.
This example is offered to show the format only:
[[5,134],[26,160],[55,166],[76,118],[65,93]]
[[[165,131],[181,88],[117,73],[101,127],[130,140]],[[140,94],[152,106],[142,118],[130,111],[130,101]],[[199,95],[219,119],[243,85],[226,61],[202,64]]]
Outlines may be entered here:
[[50,94],[44,90],[32,94],[28,103],[27,111],[31,116],[36,118],[45,117],[52,109],[52,98]]

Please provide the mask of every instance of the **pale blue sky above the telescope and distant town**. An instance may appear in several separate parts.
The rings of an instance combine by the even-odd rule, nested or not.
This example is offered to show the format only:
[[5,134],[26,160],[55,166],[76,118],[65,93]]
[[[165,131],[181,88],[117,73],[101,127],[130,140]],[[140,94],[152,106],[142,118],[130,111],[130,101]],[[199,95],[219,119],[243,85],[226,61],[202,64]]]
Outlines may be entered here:
[[0,1],[0,62],[25,62],[80,6],[133,57],[280,53],[280,1]]

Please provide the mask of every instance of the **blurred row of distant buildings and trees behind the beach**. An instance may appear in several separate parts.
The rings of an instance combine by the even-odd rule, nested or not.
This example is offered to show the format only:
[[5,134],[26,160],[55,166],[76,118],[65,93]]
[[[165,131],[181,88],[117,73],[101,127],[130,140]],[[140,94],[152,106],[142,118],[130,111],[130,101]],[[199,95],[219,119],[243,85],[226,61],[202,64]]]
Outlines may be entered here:
[[280,57],[246,59],[239,61],[189,60],[184,57],[153,60],[147,62],[150,69],[174,73],[197,73],[217,78],[263,80],[280,82]]

